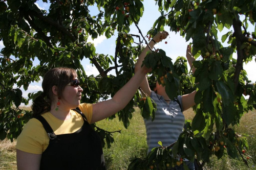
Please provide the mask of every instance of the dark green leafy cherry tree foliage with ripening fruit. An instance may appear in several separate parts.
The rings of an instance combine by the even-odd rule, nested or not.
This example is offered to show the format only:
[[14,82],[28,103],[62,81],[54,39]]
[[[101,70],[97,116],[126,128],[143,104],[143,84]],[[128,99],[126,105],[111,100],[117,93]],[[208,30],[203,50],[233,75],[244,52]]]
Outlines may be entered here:
[[[155,1],[160,16],[148,35],[153,37],[168,27],[186,40],[192,39],[196,72],[190,75],[184,59],[178,58],[173,63],[163,50],[152,50],[143,64],[153,68],[159,83],[169,89],[166,92],[170,99],[197,89],[197,106],[194,107],[195,118],[188,122],[174,147],[154,149],[145,167],[154,161],[164,166],[161,162],[166,162],[165,156],[169,154],[179,153],[182,158],[193,160],[195,152],[203,166],[213,154],[219,159],[223,156],[220,141],[225,143],[228,155],[237,158],[237,150],[248,145],[232,126],[239,124],[245,112],[256,108],[255,84],[248,80],[243,70],[243,63],[251,62],[256,54],[255,32],[247,32],[249,24],[255,26],[256,1]],[[95,103],[100,98],[113,96],[133,76],[135,58],[142,50],[141,43],[145,39],[139,28],[142,40],[140,35],[129,34],[132,23],[137,26],[143,14],[140,0],[43,2],[51,4],[48,11],[39,9],[35,0],[0,1],[0,40],[5,46],[0,58],[0,139],[16,138],[31,117],[30,111],[18,106],[28,104],[39,92],[30,93],[29,98],[24,99],[20,87],[27,90],[30,83],[39,81],[52,67],[71,67],[77,70],[82,82],[82,102]],[[99,9],[95,16],[88,10],[92,5]],[[240,18],[244,19],[241,21]],[[233,31],[230,31],[231,27]],[[218,32],[224,28],[228,32],[219,38]],[[92,39],[100,35],[110,38],[116,31],[115,56],[96,54],[94,44],[88,42],[89,36]],[[138,43],[134,43],[134,36],[139,38]],[[225,41],[227,47],[222,45]],[[237,53],[236,59],[233,53]],[[84,58],[98,69],[99,75],[86,74],[80,64]],[[39,65],[33,65],[36,59]],[[108,74],[112,69],[116,76]],[[13,88],[15,84],[17,88]],[[246,100],[243,94],[249,95],[249,99]],[[154,103],[148,98],[146,102],[140,100],[140,95],[137,93],[136,100],[117,113],[125,128],[130,125],[135,103],[139,103],[143,117],[154,116]],[[113,139],[109,138],[111,141]],[[217,149],[212,151],[214,147]],[[169,159],[172,157],[169,156],[167,162]],[[134,162],[131,165],[135,165]]]

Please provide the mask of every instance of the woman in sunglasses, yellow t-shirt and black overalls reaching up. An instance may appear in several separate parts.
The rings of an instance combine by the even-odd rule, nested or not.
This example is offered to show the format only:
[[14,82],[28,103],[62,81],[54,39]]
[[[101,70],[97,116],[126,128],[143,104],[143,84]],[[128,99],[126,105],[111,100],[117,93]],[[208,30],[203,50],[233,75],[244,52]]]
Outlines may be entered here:
[[112,99],[96,104],[80,103],[83,89],[74,69],[49,70],[33,101],[33,118],[17,138],[18,170],[105,169],[101,140],[90,124],[123,109],[150,70],[141,67]]

